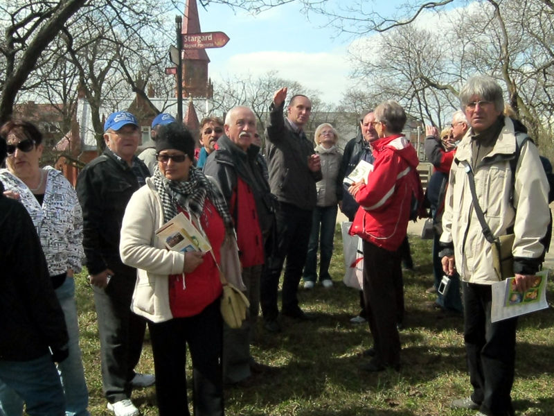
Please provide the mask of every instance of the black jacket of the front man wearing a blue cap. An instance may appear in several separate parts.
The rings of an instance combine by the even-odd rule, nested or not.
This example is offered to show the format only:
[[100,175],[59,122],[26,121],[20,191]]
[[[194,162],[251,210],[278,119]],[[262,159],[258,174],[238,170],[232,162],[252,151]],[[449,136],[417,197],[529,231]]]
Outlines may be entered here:
[[[146,165],[134,157],[144,177],[150,176]],[[93,159],[77,178],[77,196],[82,207],[84,255],[91,275],[106,268],[116,274],[134,275],[119,257],[119,236],[125,207],[139,189],[136,175],[127,163],[106,149]]]

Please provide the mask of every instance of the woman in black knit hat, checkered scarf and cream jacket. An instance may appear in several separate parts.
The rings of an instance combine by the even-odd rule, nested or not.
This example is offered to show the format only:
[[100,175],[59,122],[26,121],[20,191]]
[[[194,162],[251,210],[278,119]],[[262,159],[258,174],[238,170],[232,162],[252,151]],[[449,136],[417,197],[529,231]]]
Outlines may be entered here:
[[[188,344],[194,413],[223,415],[222,285],[215,261],[220,261],[220,248],[233,223],[220,191],[193,166],[195,141],[183,125],[164,125],[156,150],[157,169],[132,196],[121,229],[121,259],[139,273],[132,309],[148,319],[159,414],[189,415]],[[213,253],[166,249],[156,230],[179,212],[207,237]]]

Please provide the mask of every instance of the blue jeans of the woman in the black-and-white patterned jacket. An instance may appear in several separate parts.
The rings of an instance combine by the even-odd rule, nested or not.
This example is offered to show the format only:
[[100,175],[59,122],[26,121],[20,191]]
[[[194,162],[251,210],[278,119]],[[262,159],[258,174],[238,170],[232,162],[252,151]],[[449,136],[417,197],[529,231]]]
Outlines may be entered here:
[[[57,365],[62,385],[64,386],[66,416],[89,416],[89,391],[84,381],[84,370],[79,348],[79,327],[77,306],[75,304],[75,281],[68,277],[62,286],[55,290],[57,300],[64,311],[65,324],[69,335],[69,356]],[[23,402],[17,393],[0,382],[0,402],[5,416],[23,415]],[[28,406],[28,404],[27,404]]]

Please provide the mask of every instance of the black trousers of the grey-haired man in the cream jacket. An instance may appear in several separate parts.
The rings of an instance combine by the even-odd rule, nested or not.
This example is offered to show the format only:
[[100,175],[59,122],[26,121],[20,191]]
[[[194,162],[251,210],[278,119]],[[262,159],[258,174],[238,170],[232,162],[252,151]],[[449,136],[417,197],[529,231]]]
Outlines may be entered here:
[[463,283],[464,340],[473,386],[472,400],[489,416],[513,415],[517,318],[490,322],[492,289]]

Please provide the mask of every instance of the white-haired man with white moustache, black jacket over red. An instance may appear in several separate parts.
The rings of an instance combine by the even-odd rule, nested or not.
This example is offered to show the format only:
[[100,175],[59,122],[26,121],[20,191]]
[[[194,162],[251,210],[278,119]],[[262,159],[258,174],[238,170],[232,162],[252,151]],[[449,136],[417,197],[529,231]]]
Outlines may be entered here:
[[260,148],[253,143],[256,116],[248,107],[227,113],[225,134],[217,150],[209,155],[204,173],[215,177],[229,205],[237,230],[242,280],[247,286],[250,309],[240,329],[225,325],[223,372],[225,383],[244,383],[251,371],[263,370],[250,355],[250,342],[260,308],[260,277],[264,263],[264,241],[274,223],[269,184],[258,164]]

